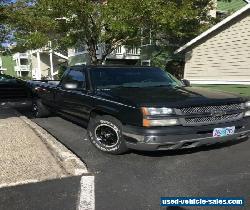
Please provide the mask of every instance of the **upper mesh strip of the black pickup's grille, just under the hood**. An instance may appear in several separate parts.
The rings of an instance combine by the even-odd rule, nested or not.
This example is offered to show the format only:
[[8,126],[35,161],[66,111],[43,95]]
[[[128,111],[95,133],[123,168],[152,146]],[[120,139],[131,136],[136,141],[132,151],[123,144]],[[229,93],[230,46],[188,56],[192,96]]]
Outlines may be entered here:
[[242,108],[241,104],[228,104],[222,106],[200,106],[200,107],[188,107],[182,108],[183,114],[197,114],[197,113],[212,113],[213,111],[236,111]]

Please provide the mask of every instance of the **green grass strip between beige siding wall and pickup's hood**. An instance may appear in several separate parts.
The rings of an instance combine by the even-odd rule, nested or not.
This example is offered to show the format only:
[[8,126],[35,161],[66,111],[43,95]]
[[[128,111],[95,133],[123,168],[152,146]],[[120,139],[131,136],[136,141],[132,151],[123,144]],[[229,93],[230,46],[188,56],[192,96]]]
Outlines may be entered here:
[[193,85],[193,86],[222,90],[231,93],[238,93],[243,96],[250,96],[250,85]]

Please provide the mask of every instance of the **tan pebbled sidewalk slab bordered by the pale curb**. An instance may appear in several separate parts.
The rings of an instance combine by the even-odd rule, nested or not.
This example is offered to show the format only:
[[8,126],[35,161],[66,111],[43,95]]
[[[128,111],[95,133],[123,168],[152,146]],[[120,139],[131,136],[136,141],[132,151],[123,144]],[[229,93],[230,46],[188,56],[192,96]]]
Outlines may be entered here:
[[12,109],[0,111],[0,186],[67,176],[34,131]]

